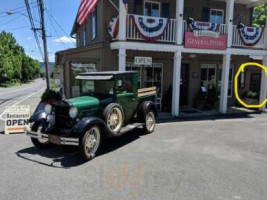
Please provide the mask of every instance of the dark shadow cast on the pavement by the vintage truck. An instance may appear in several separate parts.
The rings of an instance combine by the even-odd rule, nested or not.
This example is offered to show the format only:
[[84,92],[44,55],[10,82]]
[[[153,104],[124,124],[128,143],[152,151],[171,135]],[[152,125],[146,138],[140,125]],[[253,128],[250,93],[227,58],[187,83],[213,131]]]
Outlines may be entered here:
[[[116,151],[119,148],[139,139],[142,135],[144,135],[142,129],[136,129],[121,137],[103,140],[97,157]],[[78,147],[62,147],[54,145],[51,145],[51,147],[47,149],[29,147],[16,152],[16,155],[25,160],[54,168],[69,169],[85,163],[79,155]],[[40,161],[40,159],[38,160],[35,156],[48,158],[49,161]],[[94,159],[89,162],[93,161]]]

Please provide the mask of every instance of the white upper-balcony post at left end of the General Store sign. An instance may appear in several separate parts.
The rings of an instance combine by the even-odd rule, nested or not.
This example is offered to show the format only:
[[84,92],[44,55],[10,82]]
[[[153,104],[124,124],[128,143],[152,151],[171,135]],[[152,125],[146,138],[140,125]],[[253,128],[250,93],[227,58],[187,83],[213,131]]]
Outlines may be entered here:
[[183,44],[184,0],[176,0],[176,44]]

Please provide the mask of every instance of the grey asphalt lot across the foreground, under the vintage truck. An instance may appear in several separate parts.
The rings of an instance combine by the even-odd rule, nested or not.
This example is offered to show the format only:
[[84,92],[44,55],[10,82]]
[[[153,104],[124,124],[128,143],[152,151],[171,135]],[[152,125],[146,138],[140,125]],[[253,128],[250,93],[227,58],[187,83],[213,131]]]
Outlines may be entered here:
[[267,115],[159,124],[75,151],[0,135],[0,199],[266,200]]

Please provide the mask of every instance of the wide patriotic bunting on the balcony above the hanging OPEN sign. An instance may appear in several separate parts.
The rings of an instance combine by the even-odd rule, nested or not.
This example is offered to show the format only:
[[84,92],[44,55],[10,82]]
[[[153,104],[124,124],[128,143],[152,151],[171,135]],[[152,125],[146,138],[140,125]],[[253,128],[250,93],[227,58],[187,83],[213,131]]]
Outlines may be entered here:
[[148,41],[156,41],[161,38],[166,30],[169,19],[131,15],[134,25],[140,35]]

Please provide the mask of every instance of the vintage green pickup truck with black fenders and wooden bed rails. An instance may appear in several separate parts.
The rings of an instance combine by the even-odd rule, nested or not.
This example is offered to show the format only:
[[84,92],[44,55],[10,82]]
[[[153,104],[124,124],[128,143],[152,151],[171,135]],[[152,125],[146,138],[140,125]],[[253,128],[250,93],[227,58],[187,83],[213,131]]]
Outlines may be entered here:
[[33,144],[78,146],[90,160],[103,139],[143,127],[152,133],[156,125],[156,88],[138,89],[137,72],[79,74],[79,97],[46,104],[33,114],[26,134]]

